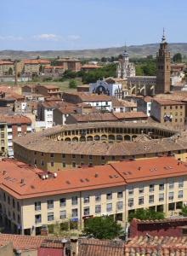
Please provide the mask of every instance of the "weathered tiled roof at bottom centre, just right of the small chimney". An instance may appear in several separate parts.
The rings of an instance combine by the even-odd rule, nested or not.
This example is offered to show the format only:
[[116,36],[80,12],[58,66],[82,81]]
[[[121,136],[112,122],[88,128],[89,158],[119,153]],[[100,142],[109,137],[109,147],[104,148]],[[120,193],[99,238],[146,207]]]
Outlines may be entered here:
[[118,240],[80,240],[78,256],[124,256],[124,242]]

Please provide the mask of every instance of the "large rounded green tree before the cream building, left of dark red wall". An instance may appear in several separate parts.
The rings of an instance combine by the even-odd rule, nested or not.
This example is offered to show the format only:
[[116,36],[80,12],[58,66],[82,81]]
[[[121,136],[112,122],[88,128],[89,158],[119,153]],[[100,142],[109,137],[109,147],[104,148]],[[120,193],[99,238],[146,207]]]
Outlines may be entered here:
[[114,239],[122,234],[122,225],[111,217],[88,218],[82,233],[97,239]]

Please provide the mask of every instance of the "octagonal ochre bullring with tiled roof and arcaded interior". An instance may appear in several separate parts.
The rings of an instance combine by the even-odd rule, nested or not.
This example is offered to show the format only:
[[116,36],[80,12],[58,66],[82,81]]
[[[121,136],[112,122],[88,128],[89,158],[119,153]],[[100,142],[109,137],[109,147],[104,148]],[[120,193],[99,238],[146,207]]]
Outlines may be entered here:
[[186,152],[178,126],[144,121],[58,125],[14,138],[14,158],[45,171],[166,154],[185,161]]

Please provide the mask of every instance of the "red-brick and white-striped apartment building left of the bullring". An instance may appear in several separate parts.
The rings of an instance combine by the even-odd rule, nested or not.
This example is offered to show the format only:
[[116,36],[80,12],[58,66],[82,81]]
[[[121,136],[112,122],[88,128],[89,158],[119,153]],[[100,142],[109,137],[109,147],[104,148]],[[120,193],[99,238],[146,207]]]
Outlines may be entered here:
[[4,116],[7,125],[7,156],[14,155],[13,139],[30,133],[31,119],[22,115]]

